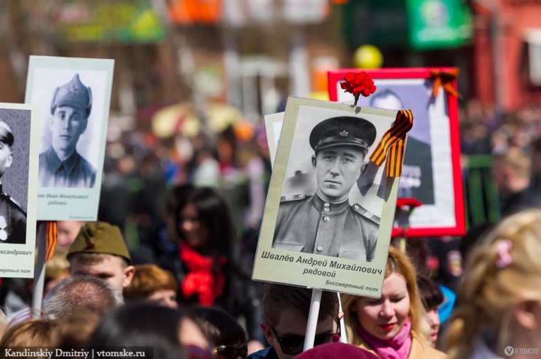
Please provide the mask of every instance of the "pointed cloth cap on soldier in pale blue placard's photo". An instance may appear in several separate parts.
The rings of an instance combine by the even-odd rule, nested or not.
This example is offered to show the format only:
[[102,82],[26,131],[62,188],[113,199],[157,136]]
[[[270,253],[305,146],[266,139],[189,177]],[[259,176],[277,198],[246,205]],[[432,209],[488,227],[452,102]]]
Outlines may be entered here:
[[72,106],[87,110],[90,115],[92,109],[92,91],[80,82],[79,74],[75,74],[69,83],[56,87],[51,101],[51,114],[57,106]]

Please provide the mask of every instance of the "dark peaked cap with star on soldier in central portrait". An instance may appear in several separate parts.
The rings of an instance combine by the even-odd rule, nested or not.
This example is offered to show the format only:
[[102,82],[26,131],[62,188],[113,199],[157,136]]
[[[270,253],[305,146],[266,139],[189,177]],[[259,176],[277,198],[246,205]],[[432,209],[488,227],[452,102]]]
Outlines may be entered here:
[[310,146],[320,151],[332,146],[355,146],[368,151],[376,139],[376,127],[360,117],[339,116],[325,119],[310,133]]

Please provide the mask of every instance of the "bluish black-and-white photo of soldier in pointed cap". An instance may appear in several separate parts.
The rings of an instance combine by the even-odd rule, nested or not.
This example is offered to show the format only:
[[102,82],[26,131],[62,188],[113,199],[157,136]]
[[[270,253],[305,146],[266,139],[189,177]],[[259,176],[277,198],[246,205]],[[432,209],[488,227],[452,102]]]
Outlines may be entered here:
[[[36,70],[40,71],[44,70]],[[42,106],[40,187],[96,185],[101,117],[94,113],[102,112],[100,97],[103,97],[105,75],[105,72],[48,69],[40,76],[42,86],[35,90],[40,91],[40,97],[49,98],[45,102],[47,106]]]

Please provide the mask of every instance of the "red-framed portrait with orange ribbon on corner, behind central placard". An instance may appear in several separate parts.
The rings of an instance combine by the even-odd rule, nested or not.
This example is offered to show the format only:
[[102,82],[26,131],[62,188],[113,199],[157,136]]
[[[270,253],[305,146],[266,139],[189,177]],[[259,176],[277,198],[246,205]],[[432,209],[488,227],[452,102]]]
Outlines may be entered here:
[[366,72],[377,86],[357,106],[410,109],[399,198],[415,198],[422,206],[409,217],[408,237],[463,235],[466,230],[460,164],[458,99],[454,67],[336,69],[328,72],[329,99],[349,103],[341,88],[347,72]]

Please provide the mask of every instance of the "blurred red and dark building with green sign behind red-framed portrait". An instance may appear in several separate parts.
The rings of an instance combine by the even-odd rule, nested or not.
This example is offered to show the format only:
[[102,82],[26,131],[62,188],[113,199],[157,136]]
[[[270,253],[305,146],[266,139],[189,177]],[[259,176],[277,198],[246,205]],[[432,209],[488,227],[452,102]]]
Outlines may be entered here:
[[351,51],[374,44],[384,67],[458,67],[465,98],[499,110],[541,101],[540,1],[343,2]]

